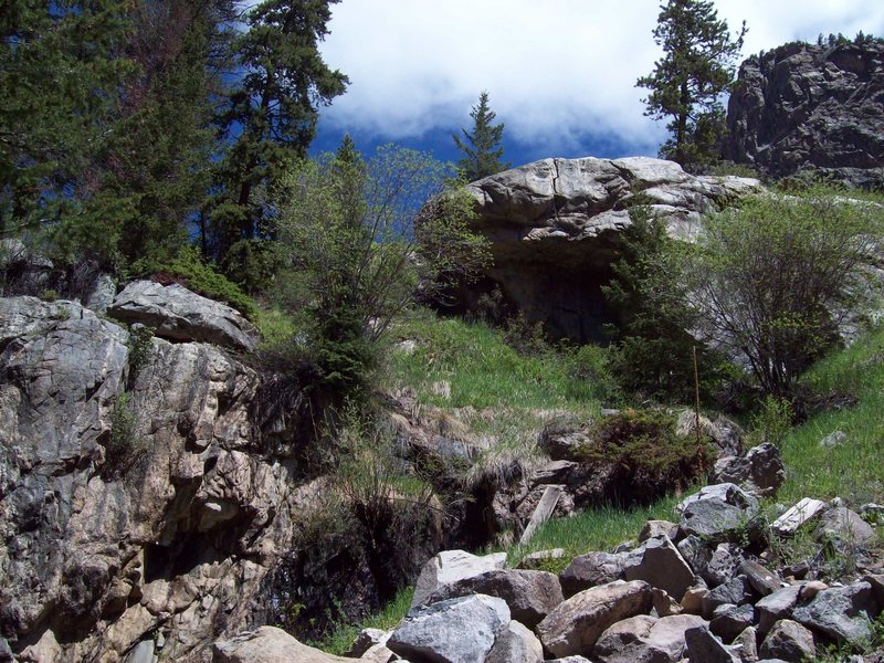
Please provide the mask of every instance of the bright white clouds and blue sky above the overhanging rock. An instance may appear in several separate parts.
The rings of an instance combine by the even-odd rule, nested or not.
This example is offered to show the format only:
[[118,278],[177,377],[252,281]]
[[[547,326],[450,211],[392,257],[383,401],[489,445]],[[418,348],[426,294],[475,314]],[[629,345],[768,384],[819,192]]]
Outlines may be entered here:
[[[343,0],[326,62],[350,78],[322,112],[315,149],[345,131],[364,151],[400,143],[456,159],[481,91],[504,122],[513,165],[545,157],[655,155],[663,122],[635,80],[653,69],[657,0]],[[744,55],[819,33],[884,35],[881,0],[718,0],[749,32]]]

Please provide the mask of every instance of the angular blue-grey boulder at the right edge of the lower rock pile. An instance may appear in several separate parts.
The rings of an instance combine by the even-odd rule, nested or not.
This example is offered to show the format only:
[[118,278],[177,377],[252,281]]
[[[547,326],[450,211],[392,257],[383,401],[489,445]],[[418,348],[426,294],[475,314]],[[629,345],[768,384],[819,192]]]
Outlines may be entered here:
[[810,603],[792,610],[792,619],[840,642],[871,635],[870,623],[881,608],[869,582],[831,587],[819,592]]

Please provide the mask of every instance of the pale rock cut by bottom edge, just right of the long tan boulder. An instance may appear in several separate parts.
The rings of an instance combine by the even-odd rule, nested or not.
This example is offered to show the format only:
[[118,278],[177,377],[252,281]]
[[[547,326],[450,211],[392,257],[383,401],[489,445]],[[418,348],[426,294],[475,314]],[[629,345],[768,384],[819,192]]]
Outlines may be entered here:
[[674,663],[684,653],[685,631],[705,623],[692,614],[632,617],[607,629],[592,655],[602,663]]

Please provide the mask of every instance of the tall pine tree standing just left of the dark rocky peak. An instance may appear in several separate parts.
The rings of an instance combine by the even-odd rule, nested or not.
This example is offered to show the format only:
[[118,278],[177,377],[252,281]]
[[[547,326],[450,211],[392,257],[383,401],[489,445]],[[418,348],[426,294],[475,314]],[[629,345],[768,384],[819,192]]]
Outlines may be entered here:
[[725,120],[722,95],[734,80],[746,23],[734,38],[712,2],[669,0],[653,34],[664,56],[636,85],[651,91],[643,99],[645,115],[670,118],[672,137],[660,156],[687,169],[702,168],[717,157]]

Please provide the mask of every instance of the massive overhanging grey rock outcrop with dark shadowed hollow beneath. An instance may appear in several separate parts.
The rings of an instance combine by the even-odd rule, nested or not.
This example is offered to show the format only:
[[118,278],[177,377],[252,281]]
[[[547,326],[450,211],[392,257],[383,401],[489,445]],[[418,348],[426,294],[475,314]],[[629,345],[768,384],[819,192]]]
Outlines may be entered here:
[[693,177],[646,157],[544,159],[467,187],[475,228],[492,243],[486,285],[528,320],[578,340],[601,338],[610,314],[599,286],[610,278],[631,204],[649,204],[673,235],[690,236],[701,212],[757,188],[757,180]]

